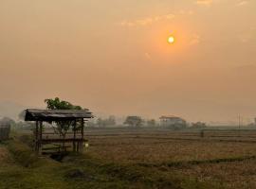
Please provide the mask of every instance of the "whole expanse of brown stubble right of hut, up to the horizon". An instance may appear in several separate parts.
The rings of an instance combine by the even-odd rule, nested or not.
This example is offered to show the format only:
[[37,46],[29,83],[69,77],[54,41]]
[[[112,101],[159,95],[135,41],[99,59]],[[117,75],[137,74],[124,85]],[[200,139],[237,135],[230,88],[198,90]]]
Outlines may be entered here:
[[[170,132],[170,131],[169,131]],[[180,174],[228,188],[256,188],[254,133],[90,133],[87,153],[109,162],[142,164],[159,174]]]

